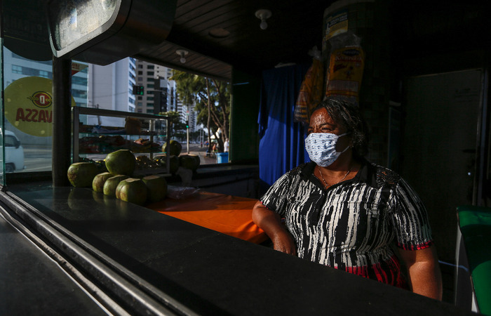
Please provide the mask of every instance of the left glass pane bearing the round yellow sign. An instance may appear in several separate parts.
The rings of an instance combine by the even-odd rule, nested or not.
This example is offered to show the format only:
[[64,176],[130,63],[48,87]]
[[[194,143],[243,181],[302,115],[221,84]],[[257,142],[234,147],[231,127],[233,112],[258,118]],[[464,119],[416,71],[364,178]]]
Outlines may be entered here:
[[[48,79],[53,78],[52,62],[29,60],[12,53],[5,47],[1,47],[0,56],[1,61],[4,62],[0,74],[4,88],[15,86],[16,90],[15,96],[6,96],[15,99],[15,103],[5,104],[6,114],[3,118],[0,114],[0,119],[4,121],[4,126],[0,126],[4,130],[4,146],[19,153],[15,154],[15,162],[8,166],[8,170],[15,170],[15,173],[49,172],[52,162],[53,112],[51,81]],[[6,56],[8,58],[3,59]],[[80,79],[74,77],[72,82],[77,83],[77,80]],[[76,95],[74,96],[76,103],[86,105],[86,91],[73,92]],[[13,116],[9,113],[13,113]],[[2,169],[1,162],[0,169]]]

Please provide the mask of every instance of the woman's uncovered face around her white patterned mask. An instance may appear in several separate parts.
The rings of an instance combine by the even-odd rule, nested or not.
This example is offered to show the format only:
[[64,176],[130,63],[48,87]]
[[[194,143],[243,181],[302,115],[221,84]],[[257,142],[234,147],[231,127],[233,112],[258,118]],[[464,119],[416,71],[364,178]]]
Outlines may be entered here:
[[[328,110],[324,108],[318,109],[312,113],[310,117],[309,129],[307,133],[332,133],[341,135],[347,132],[346,127],[337,123],[330,115]],[[336,150],[338,152],[344,150],[347,146],[351,145],[351,137],[349,135],[341,136],[337,141]]]

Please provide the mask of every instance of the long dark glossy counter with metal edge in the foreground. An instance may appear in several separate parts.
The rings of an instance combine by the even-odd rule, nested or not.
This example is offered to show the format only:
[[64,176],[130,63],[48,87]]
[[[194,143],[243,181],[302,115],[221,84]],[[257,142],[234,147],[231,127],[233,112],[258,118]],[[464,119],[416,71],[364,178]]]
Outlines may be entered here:
[[11,185],[0,197],[132,315],[469,314],[90,189]]

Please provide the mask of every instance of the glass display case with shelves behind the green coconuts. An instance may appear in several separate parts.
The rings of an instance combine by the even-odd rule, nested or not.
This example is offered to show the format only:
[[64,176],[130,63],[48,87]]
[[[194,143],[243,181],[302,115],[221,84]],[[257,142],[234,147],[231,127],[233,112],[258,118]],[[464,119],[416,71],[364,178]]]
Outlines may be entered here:
[[123,149],[135,154],[135,173],[169,173],[168,117],[90,107],[72,107],[72,112],[72,162],[102,162],[110,152]]

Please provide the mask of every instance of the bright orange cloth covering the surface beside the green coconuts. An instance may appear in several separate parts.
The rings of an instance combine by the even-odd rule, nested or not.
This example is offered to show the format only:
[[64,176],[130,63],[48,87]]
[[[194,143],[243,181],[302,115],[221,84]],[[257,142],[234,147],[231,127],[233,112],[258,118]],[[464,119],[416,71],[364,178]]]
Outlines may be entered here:
[[260,244],[266,233],[253,222],[257,199],[199,192],[185,199],[163,199],[147,208],[217,232]]

